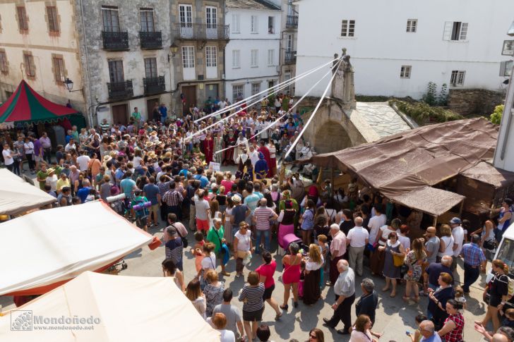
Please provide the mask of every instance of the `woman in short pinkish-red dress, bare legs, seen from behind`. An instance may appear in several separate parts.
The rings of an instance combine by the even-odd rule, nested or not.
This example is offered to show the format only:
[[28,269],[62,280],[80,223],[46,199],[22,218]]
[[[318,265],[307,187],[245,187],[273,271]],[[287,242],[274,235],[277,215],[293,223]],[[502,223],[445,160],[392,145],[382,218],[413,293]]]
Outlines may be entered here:
[[289,244],[289,255],[285,255],[282,259],[284,264],[284,271],[282,271],[282,283],[284,283],[284,303],[280,305],[280,309],[286,310],[289,307],[287,301],[289,300],[289,292],[293,290],[293,306],[298,307],[298,284],[300,282],[300,265],[301,254],[297,243]]

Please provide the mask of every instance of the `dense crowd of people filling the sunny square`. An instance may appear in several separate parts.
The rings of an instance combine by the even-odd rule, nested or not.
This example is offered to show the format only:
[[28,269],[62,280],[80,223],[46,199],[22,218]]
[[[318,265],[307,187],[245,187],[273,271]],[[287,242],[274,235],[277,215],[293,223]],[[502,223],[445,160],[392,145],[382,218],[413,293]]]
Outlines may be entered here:
[[[306,310],[323,300],[325,286],[333,286],[335,294],[325,298],[333,309],[323,318],[325,326],[336,329],[342,322],[337,333],[354,342],[380,338],[373,331],[375,283],[366,277],[356,285],[364,266],[385,277],[381,291],[391,298],[402,293],[408,305],[427,297],[426,312],[416,317],[419,329],[409,333],[413,342],[462,341],[466,296],[486,271],[484,250],[510,223],[513,201],[506,199],[498,220],[485,221],[479,230],[454,217],[411,239],[422,214],[395,207],[354,179],[335,190],[330,180],[305,188],[298,173],[278,177],[277,159],[303,125],[291,106],[287,96],[279,96],[273,105],[266,100],[255,108],[241,104],[220,117],[192,109],[184,118],[164,116],[164,122],[157,114],[145,122],[135,109],[127,126],[102,121],[80,132],[71,127],[66,145],[56,146],[54,156],[46,133],[35,138],[22,132],[16,141],[4,138],[2,154],[14,173],[20,174],[26,161],[57,206],[102,199],[145,231],[165,221],[163,275],[172,277],[222,341],[268,341],[269,326],[260,323],[265,303],[280,321],[297,310],[300,300]],[[306,148],[310,151],[300,140],[292,159],[304,157]],[[220,165],[236,165],[237,171],[222,172]],[[275,243],[280,266],[271,253]],[[195,259],[193,279],[183,273],[186,253]],[[261,266],[248,270],[255,255]],[[455,281],[460,258],[462,286]],[[474,322],[475,329],[489,341],[511,342],[514,300],[508,266],[499,259],[491,264],[494,276],[484,290],[487,313]],[[280,269],[284,295],[275,298],[274,276]],[[223,281],[231,276],[245,281],[236,299]],[[356,298],[358,285],[362,295]],[[242,314],[234,300],[243,303]],[[489,322],[492,331],[486,330]],[[323,342],[323,331],[309,331],[309,341]]]

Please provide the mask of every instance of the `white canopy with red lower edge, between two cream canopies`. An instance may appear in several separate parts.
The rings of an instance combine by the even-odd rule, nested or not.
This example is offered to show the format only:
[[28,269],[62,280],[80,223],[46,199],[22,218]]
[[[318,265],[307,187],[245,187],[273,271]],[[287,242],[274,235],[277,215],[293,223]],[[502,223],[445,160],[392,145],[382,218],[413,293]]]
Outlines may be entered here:
[[83,271],[150,245],[154,238],[104,202],[40,210],[0,224],[0,295],[46,293]]

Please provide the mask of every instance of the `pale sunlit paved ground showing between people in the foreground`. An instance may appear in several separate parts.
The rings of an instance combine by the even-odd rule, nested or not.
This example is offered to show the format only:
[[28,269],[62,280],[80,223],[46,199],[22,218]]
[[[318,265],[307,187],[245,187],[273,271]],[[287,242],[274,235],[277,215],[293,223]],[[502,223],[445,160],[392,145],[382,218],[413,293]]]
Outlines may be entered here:
[[[231,168],[232,169],[232,168]],[[162,228],[164,224],[161,224],[158,228],[151,228],[150,233],[155,236],[162,236]],[[193,236],[190,233],[188,236],[190,243],[193,242]],[[272,251],[275,251],[276,243],[272,245]],[[280,304],[282,303],[284,287],[280,281],[280,274],[282,272],[282,262],[280,255],[275,255],[273,252],[275,261],[277,262],[277,271],[275,272],[275,291],[273,297]],[[125,260],[128,264],[128,268],[120,271],[119,274],[122,276],[162,276],[161,262],[165,258],[165,249],[163,246],[156,250],[150,251],[148,247],[141,248],[128,255]],[[244,273],[245,276],[248,274],[249,269],[254,270],[261,264],[261,257],[254,255],[251,263],[247,265]],[[462,261],[459,262],[458,267],[458,278],[462,279]],[[244,286],[244,279],[235,278],[235,263],[231,259],[227,265],[227,271],[231,272],[231,276],[222,277],[222,281],[225,281],[225,288],[230,287],[234,291],[234,296],[239,293],[239,290]],[[218,267],[218,271],[220,267]],[[195,276],[194,259],[191,253],[188,251],[184,256],[184,278],[190,281]],[[405,331],[414,331],[414,317],[419,314],[426,312],[427,298],[422,297],[419,304],[414,302],[405,303],[402,300],[402,293],[405,289],[404,286],[400,286],[397,291],[395,298],[390,298],[388,293],[381,292],[381,288],[384,286],[384,280],[378,276],[371,276],[369,269],[364,269],[364,276],[368,276],[375,281],[376,289],[379,295],[378,309],[376,312],[376,324],[373,330],[376,332],[382,332],[383,336],[380,341],[410,341],[405,336]],[[357,289],[356,295],[361,295],[360,286],[358,285],[363,277],[357,276]],[[465,310],[465,341],[481,341],[480,336],[473,329],[473,321],[483,317],[486,311],[486,307],[482,302],[482,286],[484,285],[485,275],[482,275],[479,281],[477,281],[471,288],[471,295],[467,297],[467,310]],[[348,336],[341,336],[335,333],[335,330],[328,329],[323,324],[323,317],[330,317],[333,310],[330,305],[334,302],[333,288],[325,287],[322,291],[323,300],[319,300],[318,303],[312,306],[304,305],[301,300],[297,309],[292,308],[291,300],[289,300],[289,310],[284,313],[280,321],[275,321],[275,312],[271,307],[266,305],[266,309],[263,314],[263,323],[268,324],[272,331],[272,340],[275,342],[289,341],[291,338],[297,338],[299,341],[308,340],[309,330],[318,327],[325,333],[325,341],[349,341]],[[292,295],[291,295],[292,298]],[[237,298],[232,300],[234,305],[242,308],[242,303],[237,301]],[[0,296],[0,308],[1,311],[11,310],[14,307],[12,298],[6,296]],[[355,311],[352,307],[352,320],[354,320]],[[342,323],[337,326],[337,329],[342,329]]]

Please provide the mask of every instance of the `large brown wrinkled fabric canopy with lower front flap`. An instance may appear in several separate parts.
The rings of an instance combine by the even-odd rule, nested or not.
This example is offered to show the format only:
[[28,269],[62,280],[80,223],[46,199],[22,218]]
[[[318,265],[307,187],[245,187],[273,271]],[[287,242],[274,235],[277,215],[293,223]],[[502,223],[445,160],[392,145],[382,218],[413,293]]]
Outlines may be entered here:
[[497,137],[498,126],[470,118],[408,130],[301,162],[350,173],[390,200],[438,216],[464,197],[427,188],[491,161]]

